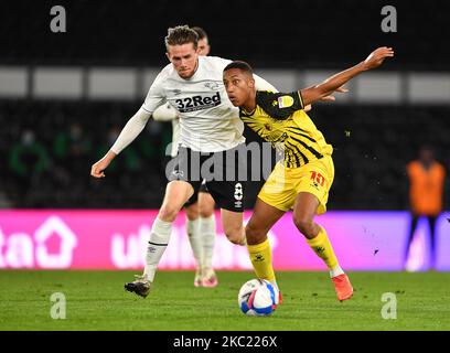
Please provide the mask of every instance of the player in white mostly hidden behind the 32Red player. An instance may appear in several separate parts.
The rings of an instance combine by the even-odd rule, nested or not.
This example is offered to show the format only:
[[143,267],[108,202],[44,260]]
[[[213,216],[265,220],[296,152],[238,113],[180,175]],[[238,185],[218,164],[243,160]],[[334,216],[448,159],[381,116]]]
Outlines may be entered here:
[[[199,26],[193,26],[192,30],[199,35],[199,55],[207,56],[211,46],[206,32]],[[172,122],[171,157],[175,158],[180,140],[180,118],[176,110],[167,103],[154,110],[152,117],[157,121]],[[213,288],[218,284],[217,275],[213,269],[213,253],[216,237],[214,205],[214,199],[207,191],[205,181],[202,182],[199,192],[194,193],[184,204],[188,238],[196,263],[195,287]]]

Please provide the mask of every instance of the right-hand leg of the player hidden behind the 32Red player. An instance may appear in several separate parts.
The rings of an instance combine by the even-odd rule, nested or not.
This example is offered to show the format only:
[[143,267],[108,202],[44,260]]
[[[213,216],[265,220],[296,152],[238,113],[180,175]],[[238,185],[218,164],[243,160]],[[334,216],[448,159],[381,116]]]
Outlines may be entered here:
[[203,286],[215,287],[218,284],[217,275],[213,269],[214,243],[216,237],[214,199],[211,196],[205,184],[199,191],[200,205],[200,237],[202,239],[203,255]]

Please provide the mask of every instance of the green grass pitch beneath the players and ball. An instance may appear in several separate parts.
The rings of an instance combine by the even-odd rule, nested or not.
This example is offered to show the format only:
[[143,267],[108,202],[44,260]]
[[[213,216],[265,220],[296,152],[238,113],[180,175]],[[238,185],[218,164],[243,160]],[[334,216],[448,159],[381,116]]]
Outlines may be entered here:
[[[124,291],[129,271],[0,271],[0,330],[450,330],[450,272],[352,272],[339,302],[325,272],[278,272],[283,304],[267,318],[237,307],[251,272],[218,272],[217,288],[194,288],[193,272],[160,271],[147,299]],[[66,319],[50,315],[53,292]],[[384,292],[397,319],[381,314]]]

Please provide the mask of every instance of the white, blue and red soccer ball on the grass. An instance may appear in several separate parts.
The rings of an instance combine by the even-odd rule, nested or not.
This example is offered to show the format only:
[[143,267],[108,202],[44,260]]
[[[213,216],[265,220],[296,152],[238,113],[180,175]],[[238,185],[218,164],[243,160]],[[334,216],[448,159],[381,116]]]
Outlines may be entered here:
[[265,317],[272,313],[276,306],[277,290],[268,280],[250,279],[240,287],[237,302],[246,315]]

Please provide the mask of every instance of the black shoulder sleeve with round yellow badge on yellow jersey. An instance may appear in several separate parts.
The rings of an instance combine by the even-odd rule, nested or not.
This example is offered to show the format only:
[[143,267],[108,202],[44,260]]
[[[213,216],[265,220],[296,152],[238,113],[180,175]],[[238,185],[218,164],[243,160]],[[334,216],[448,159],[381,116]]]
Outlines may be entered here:
[[256,104],[277,120],[286,120],[297,110],[303,109],[303,99],[299,90],[292,93],[258,90]]

